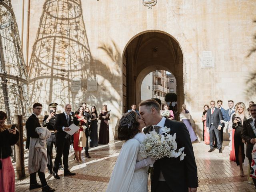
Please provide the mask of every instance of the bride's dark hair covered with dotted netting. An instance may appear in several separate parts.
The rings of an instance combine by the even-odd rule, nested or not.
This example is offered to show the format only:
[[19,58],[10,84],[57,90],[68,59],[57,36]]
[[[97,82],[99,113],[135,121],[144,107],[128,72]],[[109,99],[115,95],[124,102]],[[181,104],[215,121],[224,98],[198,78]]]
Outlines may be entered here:
[[138,114],[134,111],[123,114],[118,125],[118,139],[128,140],[139,132],[140,123],[136,120]]

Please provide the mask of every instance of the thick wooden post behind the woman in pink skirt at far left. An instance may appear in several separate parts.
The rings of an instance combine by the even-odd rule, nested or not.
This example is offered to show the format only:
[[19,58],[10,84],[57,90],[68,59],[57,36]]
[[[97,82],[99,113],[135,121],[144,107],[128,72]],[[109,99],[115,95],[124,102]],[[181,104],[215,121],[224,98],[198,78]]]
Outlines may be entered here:
[[15,154],[16,154],[16,174],[17,179],[25,178],[25,164],[24,164],[24,145],[23,145],[23,124],[22,124],[22,115],[14,116],[14,123],[17,124],[16,128],[20,132],[20,138],[15,145]]

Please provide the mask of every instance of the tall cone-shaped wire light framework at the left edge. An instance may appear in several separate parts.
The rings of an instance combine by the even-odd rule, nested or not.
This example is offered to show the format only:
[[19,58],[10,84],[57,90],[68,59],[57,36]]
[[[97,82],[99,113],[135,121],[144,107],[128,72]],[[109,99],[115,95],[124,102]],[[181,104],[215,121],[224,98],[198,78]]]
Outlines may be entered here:
[[0,110],[7,114],[7,123],[14,115],[30,114],[26,65],[11,0],[0,1]]

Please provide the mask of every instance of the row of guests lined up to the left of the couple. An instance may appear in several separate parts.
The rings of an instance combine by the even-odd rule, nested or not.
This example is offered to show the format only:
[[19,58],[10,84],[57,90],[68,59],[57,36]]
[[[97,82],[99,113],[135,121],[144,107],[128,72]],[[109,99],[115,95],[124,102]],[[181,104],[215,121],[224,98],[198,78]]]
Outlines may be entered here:
[[[42,112],[42,104],[35,103],[32,106],[32,114],[26,121],[26,149],[29,150],[28,172],[30,174],[29,189],[42,188],[42,192],[53,192],[46,181],[44,171],[48,172],[56,179],[60,179],[58,175],[59,169],[64,169],[64,176],[75,175],[68,169],[68,156],[70,145],[74,148],[74,160],[82,163],[82,149],[85,149],[85,157],[91,158],[89,155],[89,146],[96,147],[98,144],[108,144],[109,142],[109,126],[110,111],[107,105],[103,105],[100,114],[96,107],[92,106],[91,110],[85,102],[81,104],[77,111],[72,112],[72,106],[66,104],[64,112],[56,114],[58,104],[51,103],[49,115],[44,116],[42,126],[38,116]],[[0,111],[0,191],[15,191],[15,174],[12,166],[11,145],[16,144],[19,138],[19,132],[16,129],[8,129],[5,120],[7,115]],[[100,129],[98,137],[98,120],[100,120]],[[79,130],[73,135],[68,134],[71,130],[70,126],[75,124]],[[86,139],[83,138],[85,135]],[[81,144],[81,139],[85,140]],[[46,145],[46,149],[45,146]],[[52,164],[53,145],[56,149],[56,157]],[[46,158],[47,156],[47,158]],[[62,162],[63,156],[63,162]],[[36,163],[35,163],[36,162]],[[63,166],[62,166],[63,163]],[[36,180],[36,173],[41,184]]]

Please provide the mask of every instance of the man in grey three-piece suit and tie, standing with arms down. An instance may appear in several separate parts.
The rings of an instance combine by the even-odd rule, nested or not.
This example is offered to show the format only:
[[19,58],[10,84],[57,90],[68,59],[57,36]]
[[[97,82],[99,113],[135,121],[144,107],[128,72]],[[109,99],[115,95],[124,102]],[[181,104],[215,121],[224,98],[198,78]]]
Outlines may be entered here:
[[207,130],[209,130],[209,134],[210,134],[210,150],[208,152],[214,151],[213,140],[214,140],[214,134],[215,134],[217,138],[217,148],[219,150],[219,153],[222,153],[222,141],[221,141],[222,123],[220,122],[221,120],[223,120],[222,113],[220,109],[215,107],[215,101],[211,101],[210,106],[211,108],[207,110],[207,116],[206,116],[206,128]]

